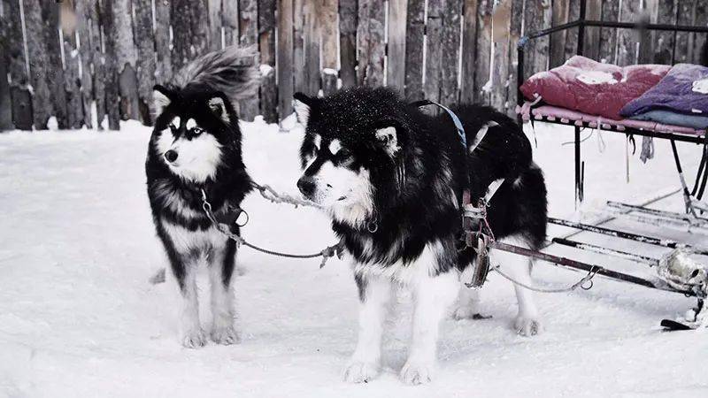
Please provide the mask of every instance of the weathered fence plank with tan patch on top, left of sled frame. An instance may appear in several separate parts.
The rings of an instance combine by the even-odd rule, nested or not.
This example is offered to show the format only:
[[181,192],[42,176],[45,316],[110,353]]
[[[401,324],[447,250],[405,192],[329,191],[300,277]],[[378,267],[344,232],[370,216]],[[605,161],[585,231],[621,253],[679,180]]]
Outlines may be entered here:
[[[490,104],[497,110],[506,113],[508,106],[508,84],[509,84],[509,34],[495,34],[509,32],[511,28],[511,19],[504,18],[505,15],[511,17],[512,2],[507,0],[503,4],[495,7],[495,16],[492,18],[492,42],[494,42],[494,53],[492,54],[492,87],[490,92]],[[498,12],[498,14],[497,14]],[[497,27],[500,24],[501,27]],[[497,37],[498,36],[498,37]],[[514,104],[515,105],[515,104]]]

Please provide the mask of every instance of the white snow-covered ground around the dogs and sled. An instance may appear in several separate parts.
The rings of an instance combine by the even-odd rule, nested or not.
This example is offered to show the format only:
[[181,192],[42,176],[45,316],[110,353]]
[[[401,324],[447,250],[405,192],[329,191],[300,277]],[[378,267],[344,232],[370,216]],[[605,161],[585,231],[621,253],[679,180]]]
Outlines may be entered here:
[[[258,122],[245,130],[254,179],[294,192],[302,133],[283,134]],[[579,217],[573,214],[573,147],[561,145],[572,134],[561,127],[536,130],[535,157],[548,179],[550,211]],[[401,292],[381,377],[348,385],[341,371],[356,342],[358,302],[348,267],[334,260],[319,270],[317,260],[242,249],[242,275],[235,281],[242,343],[181,348],[173,280],[148,283],[165,265],[144,187],[149,134],[131,123],[121,133],[0,134],[0,396],[708,396],[708,333],[658,330],[661,318],[695,302],[600,278],[588,292],[538,295],[547,332],[524,338],[510,328],[512,287],[492,274],[482,297],[493,318],[446,320],[440,370],[423,387],[397,379],[411,315],[410,296]],[[604,141],[604,153],[596,136],[583,144],[586,218],[597,216],[602,199],[643,203],[677,188],[666,142],[657,142],[657,158],[648,165],[632,157],[627,184],[624,138],[604,134]],[[681,153],[695,172],[699,149],[681,145]],[[681,198],[657,205],[680,210]],[[315,210],[266,203],[257,194],[244,207],[250,212],[244,236],[257,244],[310,252],[335,241]],[[626,221],[609,225],[686,237]],[[575,239],[663,253],[591,234]],[[708,246],[704,235],[689,240]],[[651,273],[607,256],[549,250]],[[535,268],[540,286],[566,286],[581,276],[550,264]],[[208,323],[206,305],[202,314]]]

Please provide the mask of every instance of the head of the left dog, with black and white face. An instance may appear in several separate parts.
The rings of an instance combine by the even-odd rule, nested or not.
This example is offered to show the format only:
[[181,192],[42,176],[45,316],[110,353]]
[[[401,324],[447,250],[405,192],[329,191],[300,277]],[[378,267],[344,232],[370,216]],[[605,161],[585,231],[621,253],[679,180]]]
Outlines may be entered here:
[[213,179],[239,130],[227,96],[205,85],[155,86],[153,145],[175,175],[194,183]]

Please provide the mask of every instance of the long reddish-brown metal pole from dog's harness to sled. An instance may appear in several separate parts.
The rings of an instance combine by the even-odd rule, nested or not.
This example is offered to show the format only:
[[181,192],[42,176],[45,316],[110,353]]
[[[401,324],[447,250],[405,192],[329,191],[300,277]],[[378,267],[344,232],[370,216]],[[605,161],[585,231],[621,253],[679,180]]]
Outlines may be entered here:
[[574,270],[581,270],[585,272],[595,272],[598,275],[603,275],[604,277],[620,280],[623,282],[629,282],[635,285],[640,285],[643,287],[650,287],[658,290],[664,290],[667,292],[680,293],[681,295],[696,296],[695,292],[689,290],[676,290],[669,287],[666,284],[651,281],[649,279],[643,279],[635,277],[634,275],[629,275],[627,273],[616,272],[608,270],[600,265],[582,263],[581,261],[575,261],[570,258],[554,256],[548,253],[543,253],[541,251],[535,251],[531,249],[520,248],[519,246],[513,246],[502,242],[494,242],[491,244],[491,248],[507,251],[510,253],[518,254],[520,256],[527,256],[536,258],[539,260],[547,261],[549,263],[558,264],[563,267],[572,268]]

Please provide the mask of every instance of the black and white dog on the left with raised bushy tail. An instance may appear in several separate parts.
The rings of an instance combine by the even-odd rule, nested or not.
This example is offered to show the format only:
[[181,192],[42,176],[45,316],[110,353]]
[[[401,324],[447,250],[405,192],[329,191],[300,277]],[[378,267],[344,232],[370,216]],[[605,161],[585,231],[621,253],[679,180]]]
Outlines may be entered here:
[[232,101],[258,93],[258,69],[243,62],[253,57],[253,50],[234,47],[212,52],[189,64],[176,84],[154,88],[157,120],[145,162],[148,196],[183,297],[181,340],[189,348],[206,342],[195,280],[203,258],[212,286],[212,341],[238,341],[231,287],[236,245],[205,217],[201,191],[217,217],[238,207],[250,191]]

